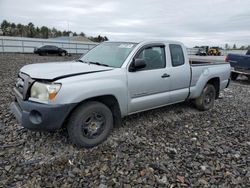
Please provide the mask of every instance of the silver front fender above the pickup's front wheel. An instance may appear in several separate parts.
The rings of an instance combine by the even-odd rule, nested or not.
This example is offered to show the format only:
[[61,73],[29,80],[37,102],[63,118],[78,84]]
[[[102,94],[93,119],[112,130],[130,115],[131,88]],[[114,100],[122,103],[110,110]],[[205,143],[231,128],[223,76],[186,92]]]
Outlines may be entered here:
[[122,116],[127,114],[127,84],[124,69],[73,76],[61,80],[62,87],[54,104],[80,103],[89,98],[112,95],[120,106]]

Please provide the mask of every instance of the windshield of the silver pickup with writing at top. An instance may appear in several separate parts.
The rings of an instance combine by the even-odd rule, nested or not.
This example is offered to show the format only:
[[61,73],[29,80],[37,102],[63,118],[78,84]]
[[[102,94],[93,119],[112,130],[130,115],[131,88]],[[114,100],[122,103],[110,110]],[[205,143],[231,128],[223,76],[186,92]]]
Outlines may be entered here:
[[136,45],[126,42],[104,42],[90,50],[80,60],[119,68]]

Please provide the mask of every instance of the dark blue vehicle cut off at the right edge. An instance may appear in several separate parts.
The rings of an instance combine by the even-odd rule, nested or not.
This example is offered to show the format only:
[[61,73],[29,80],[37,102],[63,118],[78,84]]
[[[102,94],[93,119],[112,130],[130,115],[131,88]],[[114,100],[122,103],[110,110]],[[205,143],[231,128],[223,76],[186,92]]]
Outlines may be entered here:
[[226,61],[230,63],[231,79],[236,80],[238,75],[245,75],[250,80],[250,49],[246,55],[241,54],[228,54]]

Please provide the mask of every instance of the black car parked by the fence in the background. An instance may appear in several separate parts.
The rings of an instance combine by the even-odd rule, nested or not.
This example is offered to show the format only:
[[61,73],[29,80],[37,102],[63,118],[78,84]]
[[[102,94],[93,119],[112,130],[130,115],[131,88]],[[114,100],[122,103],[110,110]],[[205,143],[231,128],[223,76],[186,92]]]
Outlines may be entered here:
[[68,55],[68,52],[66,50],[52,45],[46,45],[40,48],[35,48],[34,53],[39,55],[48,55],[48,54],[56,54],[60,56]]

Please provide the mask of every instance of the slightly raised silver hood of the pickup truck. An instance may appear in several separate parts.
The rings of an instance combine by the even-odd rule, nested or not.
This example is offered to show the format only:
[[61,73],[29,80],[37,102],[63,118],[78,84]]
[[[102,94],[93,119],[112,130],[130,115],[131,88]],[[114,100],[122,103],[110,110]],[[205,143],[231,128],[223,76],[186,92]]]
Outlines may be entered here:
[[31,78],[34,79],[54,81],[70,76],[90,74],[112,69],[113,68],[110,67],[69,61],[63,63],[51,62],[26,65],[22,67],[20,71],[28,74]]

